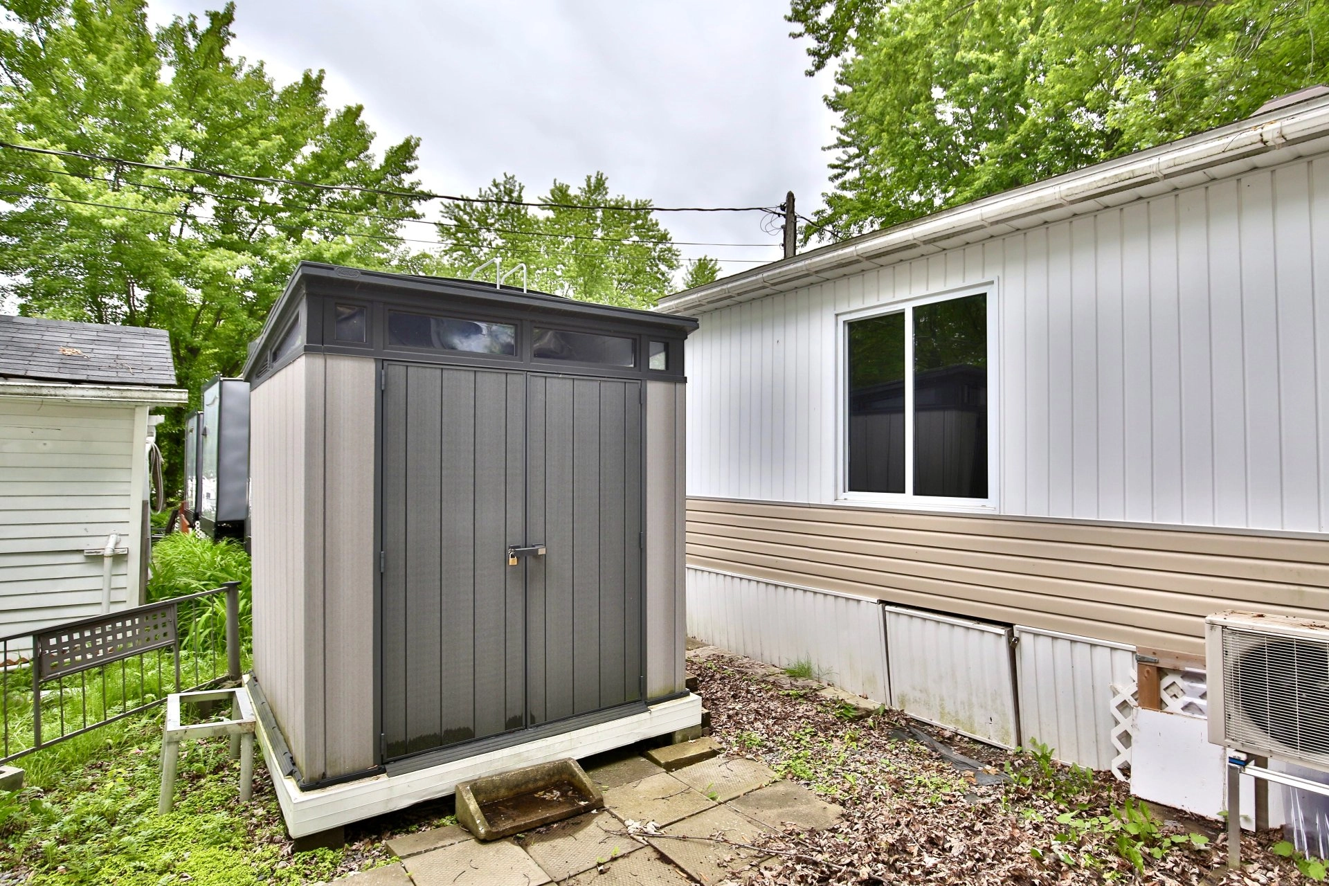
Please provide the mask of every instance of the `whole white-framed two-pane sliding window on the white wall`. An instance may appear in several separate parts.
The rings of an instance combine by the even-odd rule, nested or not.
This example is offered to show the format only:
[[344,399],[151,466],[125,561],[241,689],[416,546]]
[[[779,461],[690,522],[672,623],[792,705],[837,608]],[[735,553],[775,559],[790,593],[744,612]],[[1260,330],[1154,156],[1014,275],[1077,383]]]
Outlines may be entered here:
[[836,323],[837,501],[995,510],[995,282]]

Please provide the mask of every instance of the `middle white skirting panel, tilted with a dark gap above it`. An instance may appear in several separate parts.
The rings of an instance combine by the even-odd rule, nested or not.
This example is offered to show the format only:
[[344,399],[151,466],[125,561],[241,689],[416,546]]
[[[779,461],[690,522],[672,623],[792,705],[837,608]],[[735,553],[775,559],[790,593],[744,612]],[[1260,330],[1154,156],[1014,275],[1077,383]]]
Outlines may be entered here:
[[1018,745],[1010,628],[882,608],[890,707],[981,741]]

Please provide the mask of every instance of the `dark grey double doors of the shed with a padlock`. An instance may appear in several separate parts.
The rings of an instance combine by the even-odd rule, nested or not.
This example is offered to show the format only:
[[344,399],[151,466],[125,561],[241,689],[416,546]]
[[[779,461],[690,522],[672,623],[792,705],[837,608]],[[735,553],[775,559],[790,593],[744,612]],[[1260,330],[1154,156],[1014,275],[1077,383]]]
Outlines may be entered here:
[[388,363],[380,452],[385,760],[642,699],[639,381]]

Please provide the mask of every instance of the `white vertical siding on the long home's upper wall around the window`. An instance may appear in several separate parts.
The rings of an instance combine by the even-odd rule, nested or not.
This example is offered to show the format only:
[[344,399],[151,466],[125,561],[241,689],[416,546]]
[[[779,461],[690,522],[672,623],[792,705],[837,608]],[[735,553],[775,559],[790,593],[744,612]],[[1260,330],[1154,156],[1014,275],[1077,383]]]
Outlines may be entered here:
[[995,279],[1003,513],[1329,531],[1326,238],[1304,159],[703,313],[688,493],[833,501],[836,312]]

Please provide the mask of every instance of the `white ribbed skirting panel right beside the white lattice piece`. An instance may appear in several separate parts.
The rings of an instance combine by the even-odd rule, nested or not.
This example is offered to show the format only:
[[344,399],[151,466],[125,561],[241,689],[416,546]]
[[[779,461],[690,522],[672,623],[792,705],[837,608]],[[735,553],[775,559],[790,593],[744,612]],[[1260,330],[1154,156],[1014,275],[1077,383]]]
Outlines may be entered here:
[[1053,756],[1092,769],[1112,765],[1112,684],[1135,684],[1135,648],[1084,636],[1015,628],[1019,727]]

